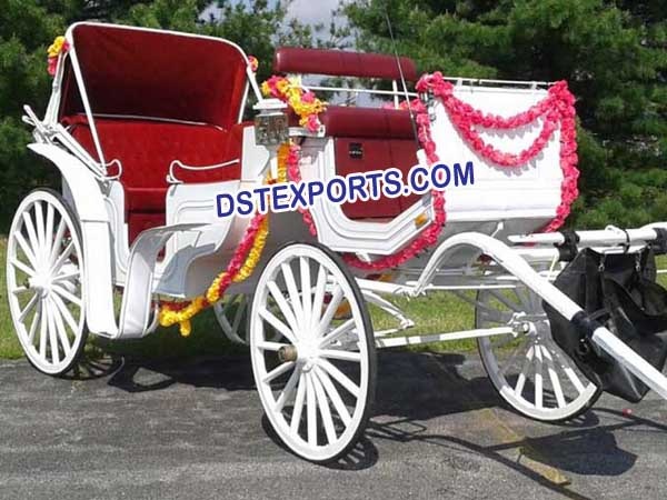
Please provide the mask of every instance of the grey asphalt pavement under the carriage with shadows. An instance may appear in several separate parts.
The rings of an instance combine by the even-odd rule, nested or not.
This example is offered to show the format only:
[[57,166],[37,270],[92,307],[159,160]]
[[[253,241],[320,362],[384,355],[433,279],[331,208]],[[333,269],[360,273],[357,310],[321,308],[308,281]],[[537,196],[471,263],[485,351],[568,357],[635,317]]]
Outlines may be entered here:
[[653,394],[631,416],[605,397],[544,426],[504,409],[476,359],[382,352],[367,438],[325,468],[272,440],[245,359],[98,368],[58,380],[0,363],[0,498],[667,497]]

